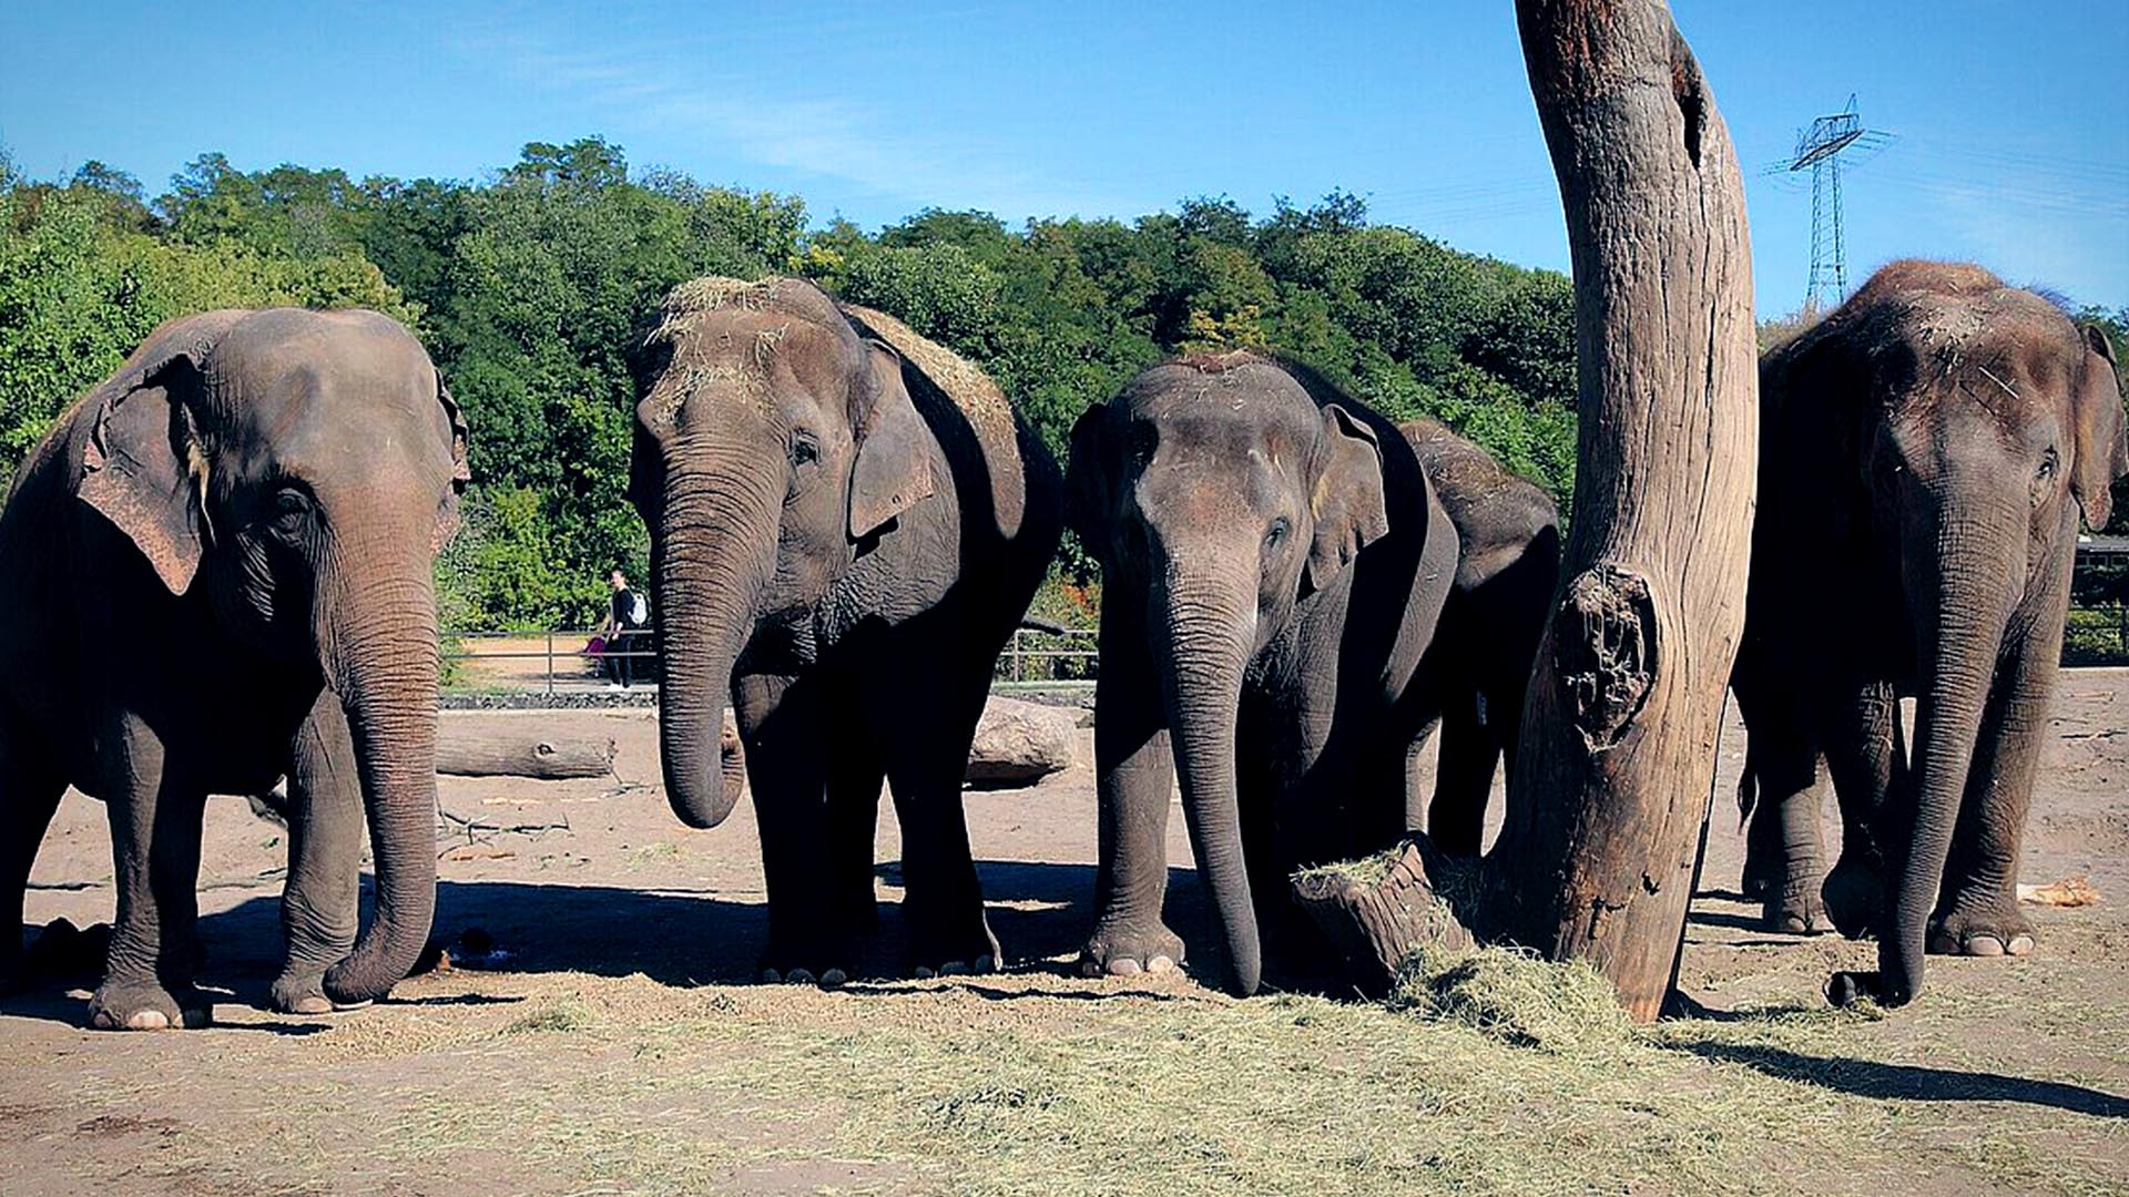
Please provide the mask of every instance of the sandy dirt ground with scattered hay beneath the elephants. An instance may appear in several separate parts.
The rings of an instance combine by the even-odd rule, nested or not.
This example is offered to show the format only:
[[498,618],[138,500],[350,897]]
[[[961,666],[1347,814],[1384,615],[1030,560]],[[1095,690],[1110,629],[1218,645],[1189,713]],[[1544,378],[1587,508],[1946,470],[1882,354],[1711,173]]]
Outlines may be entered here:
[[[1554,1050],[1375,1003],[1073,975],[1092,733],[1075,769],[967,794],[1003,975],[752,984],[747,803],[683,829],[649,711],[517,714],[611,733],[620,758],[611,780],[443,782],[436,929],[483,931],[488,967],[268,1014],[285,835],[217,799],[215,1027],[89,1033],[87,990],[60,984],[0,1001],[0,1193],[2129,1193],[2125,716],[2129,671],[2063,675],[2027,833],[2023,880],[2089,875],[2101,903],[2029,907],[2033,958],[1933,958],[1925,999],[1884,1018],[1818,997],[1871,946],[1769,935],[1735,901],[1733,724],[1680,973],[1705,1014]],[[892,814],[877,858],[886,969]],[[1179,811],[1169,858],[1169,920],[1207,939]],[[70,794],[28,918],[111,914],[102,807]]]

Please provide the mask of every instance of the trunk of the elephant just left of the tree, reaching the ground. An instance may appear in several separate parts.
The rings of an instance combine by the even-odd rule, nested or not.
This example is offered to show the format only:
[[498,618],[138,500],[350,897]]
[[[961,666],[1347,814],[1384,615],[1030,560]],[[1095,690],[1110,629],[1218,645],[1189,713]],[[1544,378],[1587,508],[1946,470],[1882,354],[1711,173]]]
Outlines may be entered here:
[[[1218,560],[1218,554],[1201,560]],[[1235,720],[1256,630],[1256,590],[1245,577],[1177,577],[1173,564],[1165,575],[1148,624],[1154,628],[1152,650],[1160,665],[1184,818],[1226,935],[1228,984],[1248,997],[1262,978],[1262,948],[1241,852]]]

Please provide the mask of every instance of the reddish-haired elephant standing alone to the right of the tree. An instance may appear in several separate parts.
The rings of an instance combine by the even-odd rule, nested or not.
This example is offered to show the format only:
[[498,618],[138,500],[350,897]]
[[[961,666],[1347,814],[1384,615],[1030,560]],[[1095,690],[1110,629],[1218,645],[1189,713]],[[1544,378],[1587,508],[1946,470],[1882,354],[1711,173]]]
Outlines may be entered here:
[[[1925,948],[2031,952],[2018,841],[2078,515],[2103,526],[2125,471],[2108,339],[1980,266],[1893,262],[1761,360],[1748,878],[1773,927],[1876,931],[1835,1001],[1914,999]],[[1820,886],[1822,775],[1844,835]]]

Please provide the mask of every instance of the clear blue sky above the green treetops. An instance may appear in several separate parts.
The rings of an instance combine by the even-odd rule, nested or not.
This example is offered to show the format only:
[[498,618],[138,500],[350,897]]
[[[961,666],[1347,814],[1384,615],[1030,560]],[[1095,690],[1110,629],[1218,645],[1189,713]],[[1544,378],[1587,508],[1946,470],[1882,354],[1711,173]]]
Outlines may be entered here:
[[[1795,309],[1810,187],[1761,175],[1859,96],[1850,283],[1974,258],[2129,305],[2129,81],[2106,2],[1676,0],[1742,158],[1759,305]],[[1460,249],[1567,266],[1507,0],[1431,4],[0,4],[0,145],[162,192],[219,149],[481,179],[526,141],[807,198],[1120,215],[1333,187]]]

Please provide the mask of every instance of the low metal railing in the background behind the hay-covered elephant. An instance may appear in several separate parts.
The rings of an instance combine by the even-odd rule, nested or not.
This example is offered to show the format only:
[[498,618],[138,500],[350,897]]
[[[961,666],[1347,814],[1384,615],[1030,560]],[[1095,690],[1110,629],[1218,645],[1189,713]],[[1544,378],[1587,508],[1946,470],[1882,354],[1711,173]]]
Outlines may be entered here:
[[[607,660],[628,660],[634,686],[656,688],[658,643],[649,633],[626,637],[620,652],[592,656],[594,630],[556,633],[447,633],[443,684],[447,692],[573,692],[607,686]],[[1092,684],[1099,652],[1094,628],[1022,626],[1013,630],[992,679],[1001,686]]]

